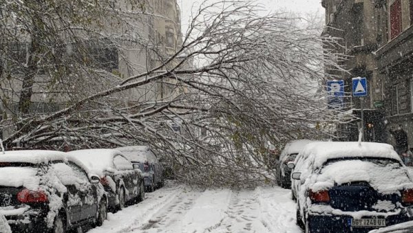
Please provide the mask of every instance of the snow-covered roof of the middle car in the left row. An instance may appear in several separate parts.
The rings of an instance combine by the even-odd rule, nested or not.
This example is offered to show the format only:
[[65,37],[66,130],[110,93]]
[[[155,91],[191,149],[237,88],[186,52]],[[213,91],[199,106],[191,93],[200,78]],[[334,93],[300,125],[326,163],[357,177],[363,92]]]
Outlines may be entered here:
[[116,149],[85,149],[67,152],[68,157],[80,160],[91,172],[102,174],[106,168],[114,168],[113,159],[123,155]]

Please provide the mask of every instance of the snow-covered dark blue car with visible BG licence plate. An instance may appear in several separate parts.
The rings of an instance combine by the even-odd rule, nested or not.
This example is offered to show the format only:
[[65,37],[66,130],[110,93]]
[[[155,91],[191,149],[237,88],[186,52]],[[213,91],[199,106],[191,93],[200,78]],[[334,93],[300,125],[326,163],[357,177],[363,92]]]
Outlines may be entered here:
[[313,142],[291,177],[306,232],[368,232],[413,219],[413,181],[389,144]]

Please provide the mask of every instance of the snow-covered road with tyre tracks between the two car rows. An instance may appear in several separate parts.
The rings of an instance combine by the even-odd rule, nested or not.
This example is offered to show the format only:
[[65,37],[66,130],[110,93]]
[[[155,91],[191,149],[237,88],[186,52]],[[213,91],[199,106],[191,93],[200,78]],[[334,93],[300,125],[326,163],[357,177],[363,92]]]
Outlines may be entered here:
[[108,214],[98,232],[277,232],[301,233],[290,190],[197,190],[173,186],[147,193],[145,201]]

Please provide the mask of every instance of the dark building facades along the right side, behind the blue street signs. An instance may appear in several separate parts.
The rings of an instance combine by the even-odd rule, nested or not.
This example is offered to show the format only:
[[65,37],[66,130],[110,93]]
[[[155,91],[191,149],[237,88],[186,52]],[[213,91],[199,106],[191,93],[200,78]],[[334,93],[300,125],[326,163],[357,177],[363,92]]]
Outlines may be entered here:
[[[351,96],[351,78],[368,80],[365,98],[366,140],[389,142],[388,129],[403,124],[413,132],[413,0],[323,0],[325,36],[341,38],[336,51],[350,74],[339,74],[346,83],[346,107],[360,117],[360,99]],[[328,71],[328,70],[327,70]],[[337,135],[357,140],[357,127],[343,124]],[[413,135],[409,137],[413,145]]]

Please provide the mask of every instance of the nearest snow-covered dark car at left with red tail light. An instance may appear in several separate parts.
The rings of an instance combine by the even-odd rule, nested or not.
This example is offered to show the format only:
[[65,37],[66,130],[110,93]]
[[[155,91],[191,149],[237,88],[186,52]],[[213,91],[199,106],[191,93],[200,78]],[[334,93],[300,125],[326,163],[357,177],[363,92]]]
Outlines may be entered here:
[[59,151],[0,156],[0,213],[13,232],[65,232],[102,225],[107,195],[96,175]]

